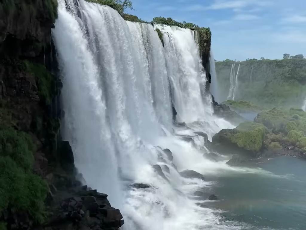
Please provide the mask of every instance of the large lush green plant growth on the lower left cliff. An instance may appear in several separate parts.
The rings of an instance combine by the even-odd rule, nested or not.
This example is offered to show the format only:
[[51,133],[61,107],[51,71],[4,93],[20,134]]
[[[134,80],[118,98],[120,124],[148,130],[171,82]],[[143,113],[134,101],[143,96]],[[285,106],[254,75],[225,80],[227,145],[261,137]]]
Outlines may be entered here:
[[0,212],[9,207],[42,222],[47,185],[31,172],[33,150],[28,134],[0,127]]

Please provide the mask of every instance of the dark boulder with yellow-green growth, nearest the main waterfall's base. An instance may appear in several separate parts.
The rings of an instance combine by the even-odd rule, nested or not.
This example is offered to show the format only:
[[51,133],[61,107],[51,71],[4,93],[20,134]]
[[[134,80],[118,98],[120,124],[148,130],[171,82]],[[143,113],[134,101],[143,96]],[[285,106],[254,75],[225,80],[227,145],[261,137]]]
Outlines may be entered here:
[[234,129],[222,129],[212,138],[213,146],[224,153],[231,151],[256,154],[262,147],[266,128],[258,123],[243,122]]

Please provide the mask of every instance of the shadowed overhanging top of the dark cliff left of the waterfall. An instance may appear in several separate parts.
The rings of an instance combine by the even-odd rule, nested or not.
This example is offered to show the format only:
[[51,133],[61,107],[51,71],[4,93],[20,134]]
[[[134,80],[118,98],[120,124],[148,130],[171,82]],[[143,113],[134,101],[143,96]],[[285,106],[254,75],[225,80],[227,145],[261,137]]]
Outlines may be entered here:
[[0,54],[35,57],[50,44],[57,0],[12,0],[0,3]]

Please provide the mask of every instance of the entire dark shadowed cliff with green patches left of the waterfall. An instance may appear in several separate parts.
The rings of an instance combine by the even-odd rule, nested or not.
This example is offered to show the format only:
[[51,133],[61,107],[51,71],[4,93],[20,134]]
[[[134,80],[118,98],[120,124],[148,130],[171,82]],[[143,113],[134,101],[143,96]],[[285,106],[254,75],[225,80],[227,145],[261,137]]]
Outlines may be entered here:
[[56,17],[56,0],[0,1],[0,229],[118,229],[61,140]]

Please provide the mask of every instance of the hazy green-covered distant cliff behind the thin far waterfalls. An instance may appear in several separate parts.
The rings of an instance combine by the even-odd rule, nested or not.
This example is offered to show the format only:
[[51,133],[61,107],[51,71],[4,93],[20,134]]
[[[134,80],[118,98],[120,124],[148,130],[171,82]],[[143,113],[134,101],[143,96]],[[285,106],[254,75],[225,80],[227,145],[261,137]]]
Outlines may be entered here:
[[306,97],[306,59],[248,60],[235,62],[227,59],[216,62],[216,72],[222,101],[230,89],[230,70],[235,63],[238,88],[235,100],[273,108],[300,108]]

